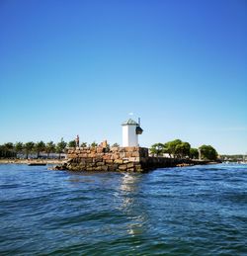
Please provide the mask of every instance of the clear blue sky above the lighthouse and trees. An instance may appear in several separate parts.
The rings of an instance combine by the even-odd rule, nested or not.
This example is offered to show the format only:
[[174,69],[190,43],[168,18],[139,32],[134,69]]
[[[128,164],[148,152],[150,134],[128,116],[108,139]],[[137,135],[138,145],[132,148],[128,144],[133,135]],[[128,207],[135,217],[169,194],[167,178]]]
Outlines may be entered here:
[[181,138],[247,152],[245,0],[1,0],[0,143]]

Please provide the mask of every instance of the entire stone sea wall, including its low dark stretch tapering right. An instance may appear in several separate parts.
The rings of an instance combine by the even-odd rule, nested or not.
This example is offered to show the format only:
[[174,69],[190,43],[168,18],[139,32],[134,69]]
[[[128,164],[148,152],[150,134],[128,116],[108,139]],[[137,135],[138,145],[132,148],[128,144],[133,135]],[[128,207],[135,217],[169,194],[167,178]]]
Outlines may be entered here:
[[65,169],[70,171],[145,172],[164,167],[206,164],[206,161],[155,157],[145,147],[77,147],[68,148]]

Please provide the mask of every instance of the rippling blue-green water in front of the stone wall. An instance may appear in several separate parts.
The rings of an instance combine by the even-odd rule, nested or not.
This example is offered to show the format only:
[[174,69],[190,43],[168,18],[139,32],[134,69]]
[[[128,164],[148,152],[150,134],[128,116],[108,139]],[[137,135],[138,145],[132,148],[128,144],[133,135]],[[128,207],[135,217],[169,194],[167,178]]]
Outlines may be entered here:
[[0,255],[247,255],[247,165],[0,165]]

